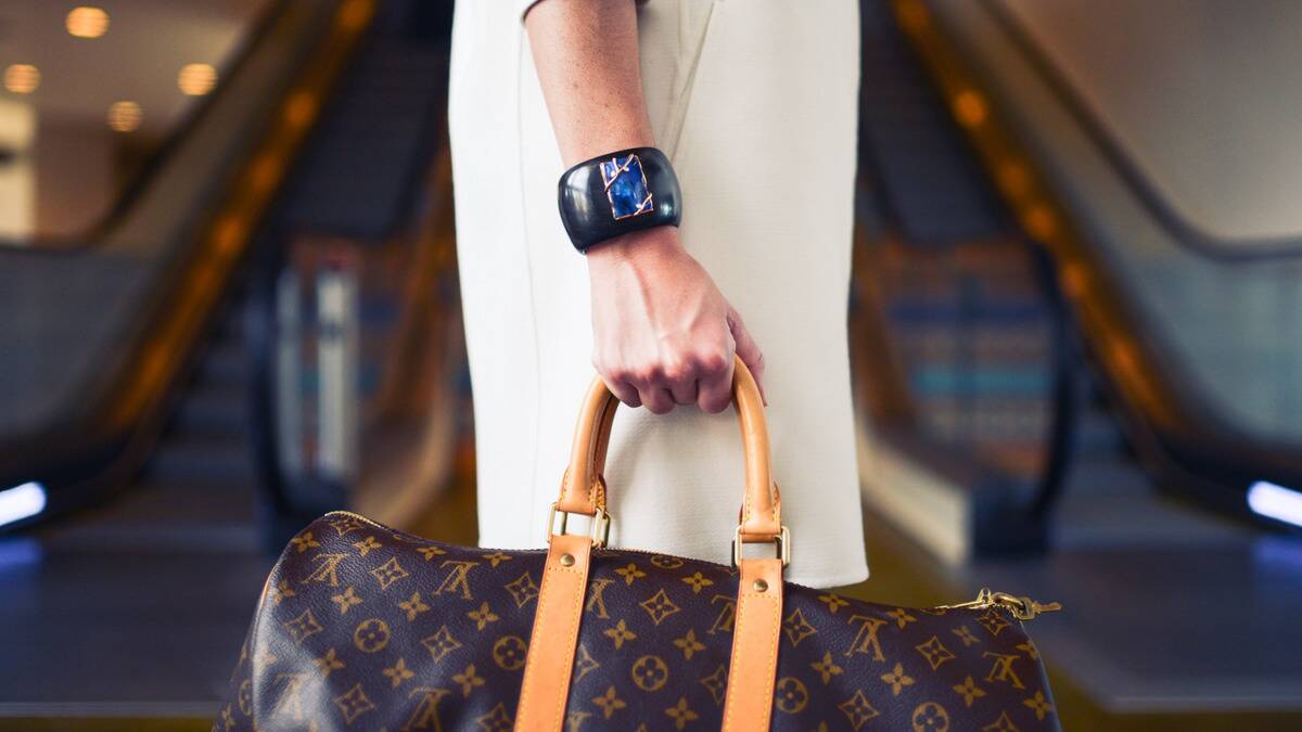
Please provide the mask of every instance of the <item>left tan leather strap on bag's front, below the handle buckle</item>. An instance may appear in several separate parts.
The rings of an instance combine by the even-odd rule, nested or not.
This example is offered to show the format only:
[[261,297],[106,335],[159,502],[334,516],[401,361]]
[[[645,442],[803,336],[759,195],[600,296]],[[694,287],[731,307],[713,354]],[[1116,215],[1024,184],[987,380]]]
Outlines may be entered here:
[[592,542],[577,534],[555,534],[549,544],[516,710],[516,729],[521,732],[560,732],[564,728],[574,649],[583,619]]

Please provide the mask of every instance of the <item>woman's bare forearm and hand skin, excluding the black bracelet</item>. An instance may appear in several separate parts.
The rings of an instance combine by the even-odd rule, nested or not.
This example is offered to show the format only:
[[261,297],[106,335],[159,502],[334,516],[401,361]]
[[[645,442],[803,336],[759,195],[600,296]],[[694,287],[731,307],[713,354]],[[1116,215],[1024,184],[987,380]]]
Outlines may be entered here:
[[[655,146],[638,68],[633,0],[543,0],[525,17],[565,165]],[[723,412],[733,354],[763,391],[764,356],[678,229],[628,233],[587,253],[592,365],[620,401],[664,414]]]

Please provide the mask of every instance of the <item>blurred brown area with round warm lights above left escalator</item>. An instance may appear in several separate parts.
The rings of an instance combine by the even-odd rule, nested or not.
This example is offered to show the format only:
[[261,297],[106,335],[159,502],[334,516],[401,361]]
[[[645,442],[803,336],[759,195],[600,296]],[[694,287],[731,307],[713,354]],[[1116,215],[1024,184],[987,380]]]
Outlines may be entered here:
[[0,8],[0,244],[94,238],[271,0]]

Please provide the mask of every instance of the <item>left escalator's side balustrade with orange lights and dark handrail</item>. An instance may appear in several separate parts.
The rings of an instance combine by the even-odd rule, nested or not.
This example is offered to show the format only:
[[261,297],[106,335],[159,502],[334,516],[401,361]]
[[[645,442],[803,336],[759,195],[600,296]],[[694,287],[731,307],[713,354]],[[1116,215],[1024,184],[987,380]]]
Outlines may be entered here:
[[139,469],[368,14],[366,3],[273,5],[103,231],[0,249],[12,324],[0,486],[43,499],[7,529],[85,505]]

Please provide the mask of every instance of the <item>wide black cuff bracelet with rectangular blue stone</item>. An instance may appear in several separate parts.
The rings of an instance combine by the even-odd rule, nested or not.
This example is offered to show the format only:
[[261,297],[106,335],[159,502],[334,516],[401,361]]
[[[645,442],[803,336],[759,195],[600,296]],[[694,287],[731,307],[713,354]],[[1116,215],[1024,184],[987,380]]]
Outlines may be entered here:
[[579,251],[682,220],[678,177],[655,147],[620,150],[574,165],[561,176],[557,201],[565,232]]

